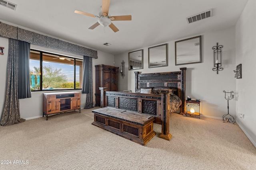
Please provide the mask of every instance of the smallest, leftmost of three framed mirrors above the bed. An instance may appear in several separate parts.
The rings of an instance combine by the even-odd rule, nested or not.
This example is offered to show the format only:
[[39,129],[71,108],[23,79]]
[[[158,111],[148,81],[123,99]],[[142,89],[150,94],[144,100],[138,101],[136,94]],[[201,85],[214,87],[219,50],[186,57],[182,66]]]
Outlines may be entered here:
[[129,53],[129,70],[143,68],[143,49]]

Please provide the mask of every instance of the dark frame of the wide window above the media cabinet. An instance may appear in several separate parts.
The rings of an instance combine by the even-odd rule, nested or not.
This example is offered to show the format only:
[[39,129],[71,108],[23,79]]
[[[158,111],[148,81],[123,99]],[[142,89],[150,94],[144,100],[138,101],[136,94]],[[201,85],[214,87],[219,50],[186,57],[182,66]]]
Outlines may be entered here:
[[[31,90],[31,92],[44,92],[44,91],[63,91],[63,90],[82,90],[82,88],[76,88],[76,60],[82,61],[84,62],[84,59],[80,59],[80,58],[75,58],[75,57],[70,57],[70,56],[66,56],[66,55],[60,55],[60,54],[56,54],[56,53],[50,53],[50,52],[46,52],[46,51],[41,51],[41,50],[36,50],[36,49],[30,49],[30,51],[36,51],[40,53],[40,89],[39,90]],[[67,89],[53,89],[53,90],[48,90],[48,89],[42,89],[42,72],[43,72],[43,54],[48,54],[48,55],[57,55],[57,56],[63,56],[66,57],[68,59],[74,59],[74,88],[67,88]],[[30,58],[29,58],[30,59]],[[65,63],[63,63],[65,64]],[[82,69],[83,69],[83,64],[82,64]],[[79,71],[79,70],[78,70]],[[83,72],[83,71],[82,71]],[[80,75],[80,74],[79,74]],[[80,75],[83,76],[83,75]],[[80,82],[80,87],[82,87]],[[31,84],[30,84],[31,87]]]

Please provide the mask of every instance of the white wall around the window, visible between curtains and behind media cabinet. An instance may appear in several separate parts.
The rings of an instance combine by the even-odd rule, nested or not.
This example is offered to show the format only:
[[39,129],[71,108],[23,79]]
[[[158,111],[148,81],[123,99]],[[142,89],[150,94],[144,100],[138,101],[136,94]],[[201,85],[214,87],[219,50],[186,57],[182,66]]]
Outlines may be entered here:
[[[0,62],[0,116],[2,115],[2,110],[4,107],[4,100],[5,100],[5,93],[6,93],[6,66],[7,66],[7,59],[8,59],[8,39],[4,37],[0,37],[0,47],[4,47],[4,55],[0,56],[1,57],[1,62]],[[46,47],[40,47],[36,45],[31,45],[32,49],[38,49],[42,51],[47,51],[50,53],[56,53],[56,54],[62,54],[62,55],[67,55],[75,58],[83,58],[83,56],[80,55],[74,55],[71,53],[66,53],[64,51],[58,51],[55,49],[49,49]],[[94,65],[97,64],[107,64],[107,65],[113,65],[114,62],[114,55],[108,54],[102,51],[98,51],[98,59],[92,59],[92,64],[93,64],[93,85],[94,85],[94,90],[93,90],[93,95],[95,94],[95,67]],[[74,91],[82,91],[82,90],[74,90]],[[65,91],[63,91],[65,92]],[[43,94],[44,92],[32,92],[31,98],[26,98],[26,99],[20,99],[20,117],[24,119],[32,119],[36,117],[42,117],[42,103],[43,103]],[[81,108],[85,106],[86,103],[86,94],[81,94]],[[95,104],[95,96],[94,96],[94,104]]]

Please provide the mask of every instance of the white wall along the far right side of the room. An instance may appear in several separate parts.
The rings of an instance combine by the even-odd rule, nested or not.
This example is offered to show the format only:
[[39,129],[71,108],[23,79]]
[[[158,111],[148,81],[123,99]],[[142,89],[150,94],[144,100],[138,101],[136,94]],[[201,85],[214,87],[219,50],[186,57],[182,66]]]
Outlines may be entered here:
[[[236,24],[236,65],[242,64],[242,78],[236,80],[237,123],[256,146],[256,1],[248,0],[243,13]],[[244,114],[244,119],[239,117]]]

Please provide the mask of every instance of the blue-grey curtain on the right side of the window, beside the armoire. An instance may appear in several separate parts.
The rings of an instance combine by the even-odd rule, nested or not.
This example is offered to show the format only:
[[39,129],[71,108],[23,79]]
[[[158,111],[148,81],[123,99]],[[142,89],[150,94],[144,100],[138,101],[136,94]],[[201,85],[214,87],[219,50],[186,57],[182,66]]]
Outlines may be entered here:
[[82,93],[86,94],[84,109],[93,107],[92,57],[84,56]]

